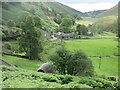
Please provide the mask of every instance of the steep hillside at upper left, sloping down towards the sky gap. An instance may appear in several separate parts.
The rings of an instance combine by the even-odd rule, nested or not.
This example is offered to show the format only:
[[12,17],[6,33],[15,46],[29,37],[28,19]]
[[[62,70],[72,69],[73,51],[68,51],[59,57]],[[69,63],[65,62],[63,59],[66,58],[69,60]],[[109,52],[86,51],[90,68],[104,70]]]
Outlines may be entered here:
[[2,3],[3,24],[6,25],[9,20],[13,20],[17,24],[23,12],[30,14],[35,12],[35,15],[41,18],[43,27],[49,31],[54,31],[58,26],[53,20],[58,15],[69,14],[73,18],[86,15],[58,2],[4,2]]

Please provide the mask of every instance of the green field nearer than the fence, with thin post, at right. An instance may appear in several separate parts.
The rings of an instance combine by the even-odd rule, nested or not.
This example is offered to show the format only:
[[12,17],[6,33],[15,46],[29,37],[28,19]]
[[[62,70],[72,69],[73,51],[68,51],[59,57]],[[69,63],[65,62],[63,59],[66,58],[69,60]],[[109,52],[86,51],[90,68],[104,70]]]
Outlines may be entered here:
[[105,76],[118,76],[118,57],[102,57],[99,68],[100,58],[92,58],[94,69],[97,74]]

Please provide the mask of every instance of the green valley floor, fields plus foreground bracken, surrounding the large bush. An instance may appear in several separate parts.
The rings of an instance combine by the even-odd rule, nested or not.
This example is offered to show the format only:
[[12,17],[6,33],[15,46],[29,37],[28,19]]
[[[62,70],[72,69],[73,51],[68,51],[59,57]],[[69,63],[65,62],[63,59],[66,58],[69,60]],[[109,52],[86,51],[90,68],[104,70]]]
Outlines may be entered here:
[[[79,49],[84,51],[85,54],[87,54],[87,56],[92,60],[97,76],[81,77],[49,73],[37,73],[37,69],[39,68],[39,66],[42,63],[49,61],[49,55],[51,55],[57,48],[59,48],[61,46],[61,43],[62,45],[64,44],[65,47],[70,51]],[[2,58],[4,60],[17,66],[17,69],[10,67],[3,68],[3,87],[117,88],[117,82],[108,79],[108,77],[118,76],[117,46],[118,42],[114,41],[113,39],[63,40],[61,42],[57,40],[51,41],[45,45],[45,51],[41,55],[44,56],[43,59],[46,61],[28,60],[15,56],[3,55]],[[101,62],[99,56],[102,57]]]

